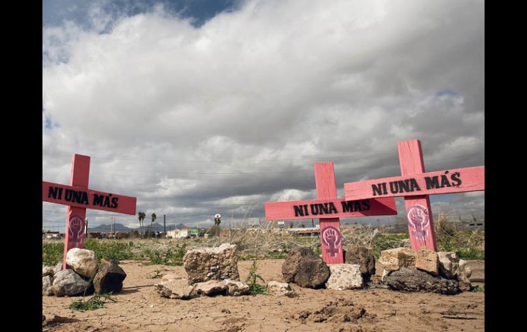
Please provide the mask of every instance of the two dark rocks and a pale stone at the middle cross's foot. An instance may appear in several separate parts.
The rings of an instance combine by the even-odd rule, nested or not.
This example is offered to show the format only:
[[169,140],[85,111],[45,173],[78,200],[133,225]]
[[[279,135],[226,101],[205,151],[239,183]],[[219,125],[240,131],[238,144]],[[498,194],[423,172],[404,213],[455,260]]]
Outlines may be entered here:
[[368,248],[344,250],[344,264],[327,265],[310,248],[290,251],[282,265],[283,279],[304,288],[354,290],[363,288],[375,274],[375,257]]

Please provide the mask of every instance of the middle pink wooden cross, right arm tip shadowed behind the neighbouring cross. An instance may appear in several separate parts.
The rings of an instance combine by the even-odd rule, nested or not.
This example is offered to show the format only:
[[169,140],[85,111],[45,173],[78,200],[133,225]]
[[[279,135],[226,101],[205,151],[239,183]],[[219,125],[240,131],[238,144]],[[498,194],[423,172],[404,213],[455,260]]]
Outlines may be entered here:
[[361,199],[346,202],[337,199],[335,169],[332,162],[315,163],[315,183],[318,199],[265,203],[266,220],[296,220],[320,218],[322,259],[326,264],[342,264],[342,235],[340,219],[362,216],[397,214],[395,199]]

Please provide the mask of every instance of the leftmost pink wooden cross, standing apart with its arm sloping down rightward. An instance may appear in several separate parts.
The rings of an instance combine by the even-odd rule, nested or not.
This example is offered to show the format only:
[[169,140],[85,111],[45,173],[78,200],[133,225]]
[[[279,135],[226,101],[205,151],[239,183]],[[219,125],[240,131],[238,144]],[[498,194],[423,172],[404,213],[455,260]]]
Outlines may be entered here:
[[90,157],[73,155],[70,186],[42,181],[42,201],[68,205],[66,238],[62,268],[67,268],[66,253],[83,248],[86,234],[86,209],[100,209],[121,214],[136,214],[136,197],[110,194],[88,189]]

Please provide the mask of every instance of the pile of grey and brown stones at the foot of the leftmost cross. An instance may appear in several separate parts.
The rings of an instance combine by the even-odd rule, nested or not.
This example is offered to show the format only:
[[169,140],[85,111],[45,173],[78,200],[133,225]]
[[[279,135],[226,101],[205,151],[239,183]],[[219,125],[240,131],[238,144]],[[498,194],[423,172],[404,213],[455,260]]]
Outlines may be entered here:
[[93,251],[72,248],[66,254],[66,264],[42,266],[42,295],[75,296],[119,292],[123,289],[125,271],[115,261],[97,259]]

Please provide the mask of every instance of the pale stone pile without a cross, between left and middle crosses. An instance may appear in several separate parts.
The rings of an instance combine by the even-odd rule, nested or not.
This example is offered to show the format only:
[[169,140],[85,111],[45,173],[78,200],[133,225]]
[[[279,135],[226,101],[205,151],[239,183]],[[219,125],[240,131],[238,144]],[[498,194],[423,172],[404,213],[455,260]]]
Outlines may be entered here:
[[[214,248],[196,248],[183,256],[187,278],[167,274],[155,290],[166,298],[188,300],[198,296],[241,296],[249,294],[247,283],[240,281],[237,247],[224,243]],[[270,281],[269,294],[291,296],[290,285]]]

